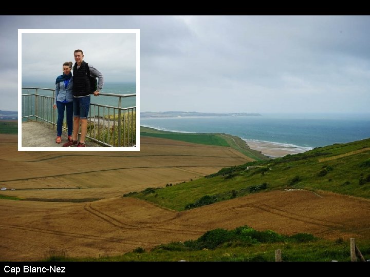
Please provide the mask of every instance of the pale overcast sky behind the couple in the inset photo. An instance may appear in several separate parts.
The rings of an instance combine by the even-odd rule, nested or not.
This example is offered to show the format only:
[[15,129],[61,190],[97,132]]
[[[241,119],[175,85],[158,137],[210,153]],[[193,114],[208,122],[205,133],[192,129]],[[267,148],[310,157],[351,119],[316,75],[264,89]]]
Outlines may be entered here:
[[135,82],[135,33],[22,33],[22,83],[50,80],[54,85],[63,63],[75,64],[76,49],[105,82]]

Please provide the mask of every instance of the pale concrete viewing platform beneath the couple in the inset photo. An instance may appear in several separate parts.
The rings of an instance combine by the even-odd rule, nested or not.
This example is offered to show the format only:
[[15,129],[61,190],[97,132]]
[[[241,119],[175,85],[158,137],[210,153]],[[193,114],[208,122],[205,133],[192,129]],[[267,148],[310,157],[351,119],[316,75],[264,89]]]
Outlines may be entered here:
[[[57,126],[40,121],[22,122],[22,147],[62,147],[68,141],[67,131],[62,131],[62,143],[55,143],[57,138]],[[102,147],[85,140],[86,147]]]

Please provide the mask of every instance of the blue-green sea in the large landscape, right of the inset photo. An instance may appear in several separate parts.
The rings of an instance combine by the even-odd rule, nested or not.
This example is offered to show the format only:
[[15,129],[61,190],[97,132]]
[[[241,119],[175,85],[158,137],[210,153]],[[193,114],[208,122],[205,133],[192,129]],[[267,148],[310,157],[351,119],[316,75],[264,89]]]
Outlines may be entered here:
[[247,143],[268,142],[304,152],[370,137],[370,113],[261,113],[261,116],[140,118],[165,131],[228,133]]

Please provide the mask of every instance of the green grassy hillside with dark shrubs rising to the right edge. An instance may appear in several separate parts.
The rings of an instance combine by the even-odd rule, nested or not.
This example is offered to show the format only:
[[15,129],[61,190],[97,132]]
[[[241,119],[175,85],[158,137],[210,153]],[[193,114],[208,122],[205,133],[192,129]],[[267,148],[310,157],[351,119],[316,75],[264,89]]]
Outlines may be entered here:
[[370,138],[224,168],[195,181],[147,188],[124,196],[181,211],[250,193],[289,188],[370,199]]

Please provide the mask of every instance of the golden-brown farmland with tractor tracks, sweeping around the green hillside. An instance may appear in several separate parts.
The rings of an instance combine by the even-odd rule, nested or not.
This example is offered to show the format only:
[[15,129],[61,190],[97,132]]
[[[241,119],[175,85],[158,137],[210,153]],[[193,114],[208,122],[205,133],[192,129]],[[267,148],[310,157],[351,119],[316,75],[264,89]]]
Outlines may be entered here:
[[[142,138],[140,152],[87,152],[81,157],[70,152],[17,152],[16,144],[0,143],[0,165],[7,168],[2,170],[0,186],[17,188],[1,194],[52,199],[104,197],[86,203],[0,199],[0,260],[33,261],[50,253],[118,255],[137,247],[149,249],[196,239],[215,228],[242,225],[284,234],[308,232],[327,239],[370,239],[370,201],[334,193],[272,191],[183,212],[121,198],[122,192],[188,180],[247,161],[228,148],[163,142],[169,143]],[[77,166],[80,160],[89,161],[88,165]],[[68,170],[73,174],[68,175]],[[81,183],[81,189],[18,190],[75,188],[75,182]]]

